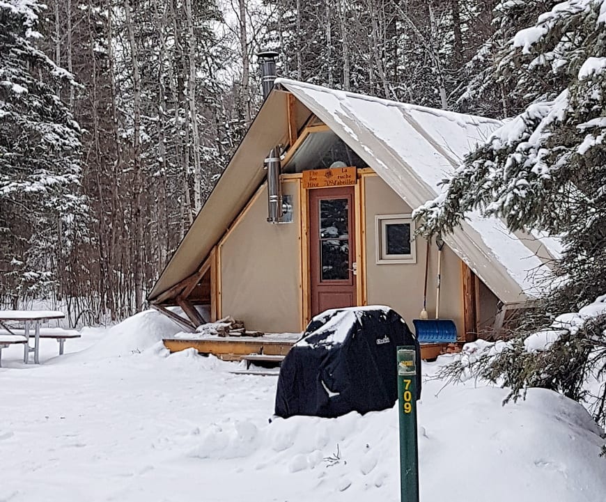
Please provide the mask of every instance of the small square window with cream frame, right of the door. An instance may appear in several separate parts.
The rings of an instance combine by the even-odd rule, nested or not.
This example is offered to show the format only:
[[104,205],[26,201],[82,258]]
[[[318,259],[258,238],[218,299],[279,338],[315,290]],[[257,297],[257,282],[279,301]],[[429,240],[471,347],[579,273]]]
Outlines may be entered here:
[[410,214],[375,216],[377,263],[416,263],[414,221]]

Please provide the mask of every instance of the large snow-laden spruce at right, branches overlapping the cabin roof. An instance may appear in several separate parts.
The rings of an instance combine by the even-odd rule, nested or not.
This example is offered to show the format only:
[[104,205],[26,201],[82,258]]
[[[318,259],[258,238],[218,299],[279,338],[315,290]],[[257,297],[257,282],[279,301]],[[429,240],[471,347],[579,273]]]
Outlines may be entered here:
[[[559,281],[525,317],[528,329],[549,327],[555,316],[606,292],[606,2],[559,3],[515,33],[492,70],[497,81],[515,75],[525,109],[472,152],[415,216],[427,234],[452,231],[478,210],[511,230],[559,236]],[[596,317],[534,353],[514,340],[483,375],[511,386],[512,395],[545,386],[589,400],[585,380],[606,372],[605,330],[606,316]],[[601,420],[605,402],[602,388],[593,396]]]

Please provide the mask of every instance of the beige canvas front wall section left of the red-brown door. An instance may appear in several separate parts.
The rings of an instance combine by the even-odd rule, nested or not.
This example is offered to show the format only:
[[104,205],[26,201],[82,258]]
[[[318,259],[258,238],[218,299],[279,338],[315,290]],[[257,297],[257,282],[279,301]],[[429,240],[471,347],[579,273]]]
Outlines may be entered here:
[[267,223],[263,189],[220,249],[222,315],[266,333],[300,331],[299,180],[282,187],[293,196],[293,223]]

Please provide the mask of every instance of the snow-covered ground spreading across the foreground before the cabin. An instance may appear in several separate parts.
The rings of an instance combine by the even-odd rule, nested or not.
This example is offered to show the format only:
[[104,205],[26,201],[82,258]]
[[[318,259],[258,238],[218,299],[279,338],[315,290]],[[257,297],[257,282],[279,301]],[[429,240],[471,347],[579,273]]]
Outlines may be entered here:
[[[174,331],[146,312],[84,329],[63,356],[42,340],[40,366],[4,350],[0,501],[399,501],[395,409],[269,423],[276,377],[169,356],[160,338]],[[422,502],[606,500],[604,440],[580,405],[442,387],[428,379],[419,403]]]

